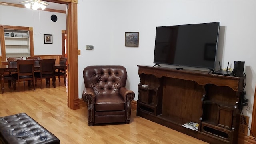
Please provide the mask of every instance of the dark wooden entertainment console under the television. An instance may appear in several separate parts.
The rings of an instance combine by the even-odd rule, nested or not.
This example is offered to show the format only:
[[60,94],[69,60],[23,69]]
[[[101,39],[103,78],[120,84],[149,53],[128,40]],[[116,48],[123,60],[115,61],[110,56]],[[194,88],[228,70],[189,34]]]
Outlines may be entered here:
[[[245,77],[138,67],[137,116],[211,144],[237,143]],[[198,131],[182,126],[190,121]]]

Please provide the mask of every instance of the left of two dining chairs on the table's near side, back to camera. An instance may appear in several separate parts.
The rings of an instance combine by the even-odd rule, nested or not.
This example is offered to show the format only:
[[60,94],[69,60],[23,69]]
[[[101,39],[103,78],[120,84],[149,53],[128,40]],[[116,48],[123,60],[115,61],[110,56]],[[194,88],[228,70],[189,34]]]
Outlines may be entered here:
[[35,60],[17,60],[17,70],[18,73],[14,74],[15,79],[18,81],[18,91],[20,91],[20,81],[28,80],[29,86],[31,86],[31,82],[33,84],[33,88],[35,89],[35,77],[34,77],[34,64]]

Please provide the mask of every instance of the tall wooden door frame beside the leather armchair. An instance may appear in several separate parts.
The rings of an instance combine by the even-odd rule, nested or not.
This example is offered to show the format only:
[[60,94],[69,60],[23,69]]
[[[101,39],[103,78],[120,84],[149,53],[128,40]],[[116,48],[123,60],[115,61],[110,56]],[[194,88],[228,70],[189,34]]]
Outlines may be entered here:
[[77,42],[77,0],[44,0],[66,4],[66,34],[68,56],[68,107],[79,109],[78,98],[78,42]]

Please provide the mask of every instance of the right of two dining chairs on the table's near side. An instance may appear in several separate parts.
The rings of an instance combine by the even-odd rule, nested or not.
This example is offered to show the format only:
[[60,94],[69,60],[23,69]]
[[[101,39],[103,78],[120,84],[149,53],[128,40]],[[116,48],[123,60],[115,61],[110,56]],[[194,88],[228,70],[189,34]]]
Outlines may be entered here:
[[41,80],[41,89],[42,88],[42,79],[45,78],[46,86],[50,86],[50,78],[52,78],[52,86],[55,88],[55,75],[54,75],[54,59],[41,59],[40,60],[40,72],[35,72],[35,85],[38,78]]

